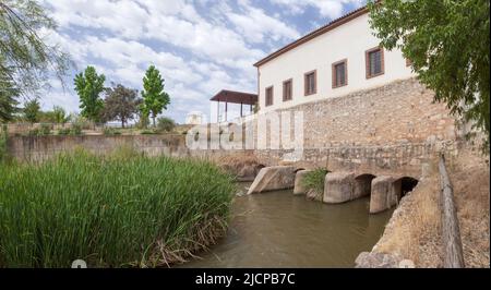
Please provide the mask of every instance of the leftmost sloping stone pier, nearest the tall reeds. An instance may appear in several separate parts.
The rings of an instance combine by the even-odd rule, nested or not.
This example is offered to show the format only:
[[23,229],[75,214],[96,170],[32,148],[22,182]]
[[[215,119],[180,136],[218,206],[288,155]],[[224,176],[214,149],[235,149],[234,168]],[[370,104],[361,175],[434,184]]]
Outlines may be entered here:
[[294,166],[272,166],[261,169],[248,194],[266,191],[287,190],[295,186]]

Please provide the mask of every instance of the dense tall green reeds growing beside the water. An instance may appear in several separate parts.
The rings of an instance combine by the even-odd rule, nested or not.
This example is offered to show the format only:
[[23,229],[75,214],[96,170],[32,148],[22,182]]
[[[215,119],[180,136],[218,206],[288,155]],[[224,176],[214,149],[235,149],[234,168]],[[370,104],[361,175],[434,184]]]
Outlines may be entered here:
[[182,262],[225,232],[235,191],[206,161],[124,152],[0,165],[0,177],[2,267]]

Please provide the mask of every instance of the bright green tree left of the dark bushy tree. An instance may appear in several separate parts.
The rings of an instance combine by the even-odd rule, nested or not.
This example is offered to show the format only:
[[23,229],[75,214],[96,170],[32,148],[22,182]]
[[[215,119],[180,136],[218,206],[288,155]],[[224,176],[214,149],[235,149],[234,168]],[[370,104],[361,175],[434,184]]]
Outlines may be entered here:
[[93,122],[100,120],[104,100],[99,95],[105,89],[105,81],[106,76],[98,75],[94,67],[87,67],[85,73],[75,75],[75,90],[80,97],[81,114]]

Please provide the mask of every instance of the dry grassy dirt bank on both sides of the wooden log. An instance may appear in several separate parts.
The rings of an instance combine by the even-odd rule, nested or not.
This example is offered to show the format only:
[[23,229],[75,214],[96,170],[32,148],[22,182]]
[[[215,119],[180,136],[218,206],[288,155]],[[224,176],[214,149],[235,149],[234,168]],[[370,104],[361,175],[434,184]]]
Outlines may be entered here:
[[[442,267],[440,180],[436,160],[429,177],[402,200],[373,252],[412,259],[417,267]],[[447,165],[454,186],[466,267],[490,263],[489,157],[463,150]]]

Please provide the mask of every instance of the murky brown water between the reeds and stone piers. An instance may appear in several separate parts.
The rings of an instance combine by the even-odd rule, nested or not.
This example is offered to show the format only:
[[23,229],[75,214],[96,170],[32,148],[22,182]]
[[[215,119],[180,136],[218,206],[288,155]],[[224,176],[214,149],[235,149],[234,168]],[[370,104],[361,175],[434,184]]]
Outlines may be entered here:
[[392,215],[369,215],[369,197],[326,205],[292,191],[243,193],[233,201],[227,237],[181,267],[352,267]]

